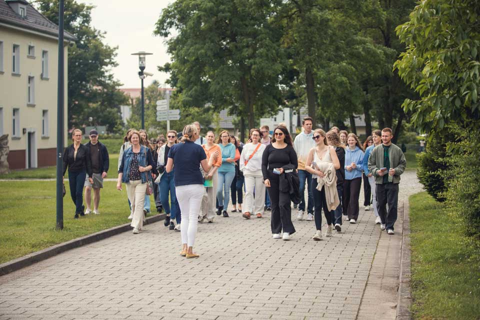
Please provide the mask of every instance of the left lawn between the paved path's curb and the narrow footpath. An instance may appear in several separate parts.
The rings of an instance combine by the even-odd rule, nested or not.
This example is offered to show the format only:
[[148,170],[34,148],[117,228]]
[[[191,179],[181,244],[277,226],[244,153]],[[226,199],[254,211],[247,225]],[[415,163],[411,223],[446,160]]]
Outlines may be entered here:
[[[106,181],[100,191],[100,214],[73,219],[75,207],[68,182],[63,198],[63,230],[56,230],[55,181],[11,181],[0,184],[0,263],[68,241],[76,237],[127,223],[126,188]],[[150,203],[153,196],[150,196]],[[154,208],[153,204],[153,208]],[[150,213],[152,215],[152,213]]]

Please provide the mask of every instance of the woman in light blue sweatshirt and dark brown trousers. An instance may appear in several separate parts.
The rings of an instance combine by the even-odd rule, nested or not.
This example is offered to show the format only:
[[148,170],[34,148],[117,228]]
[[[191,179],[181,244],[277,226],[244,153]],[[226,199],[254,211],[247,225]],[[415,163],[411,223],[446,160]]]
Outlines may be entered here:
[[343,214],[350,223],[358,220],[358,198],[360,196],[363,149],[355,133],[347,136],[345,148],[345,180],[343,180]]

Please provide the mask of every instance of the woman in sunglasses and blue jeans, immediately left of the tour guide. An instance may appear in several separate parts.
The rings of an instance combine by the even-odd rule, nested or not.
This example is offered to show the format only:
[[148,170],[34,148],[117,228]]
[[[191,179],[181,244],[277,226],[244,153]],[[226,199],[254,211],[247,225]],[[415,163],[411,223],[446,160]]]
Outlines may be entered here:
[[167,143],[158,149],[158,158],[156,161],[158,177],[155,179],[155,182],[158,184],[160,201],[166,213],[164,225],[169,225],[170,230],[180,231],[180,209],[178,208],[175,183],[173,181],[175,168],[170,172],[165,172],[165,165],[168,162],[168,152],[170,152],[173,145],[178,141],[176,131],[168,130],[166,132],[166,139]]

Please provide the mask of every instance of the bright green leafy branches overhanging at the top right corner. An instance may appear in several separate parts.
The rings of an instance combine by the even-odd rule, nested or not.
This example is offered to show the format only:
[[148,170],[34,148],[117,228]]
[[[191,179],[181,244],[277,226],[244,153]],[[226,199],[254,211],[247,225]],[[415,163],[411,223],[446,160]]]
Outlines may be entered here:
[[394,67],[419,94],[403,107],[430,138],[449,122],[479,127],[479,14],[476,0],[425,0],[396,28],[407,50]]

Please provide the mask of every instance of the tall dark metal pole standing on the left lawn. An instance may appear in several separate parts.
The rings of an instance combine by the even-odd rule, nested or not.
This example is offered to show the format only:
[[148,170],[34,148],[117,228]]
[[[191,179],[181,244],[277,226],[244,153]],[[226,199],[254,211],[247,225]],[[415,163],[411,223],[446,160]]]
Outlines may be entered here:
[[63,0],[58,8],[58,92],[56,103],[56,228],[63,229]]

